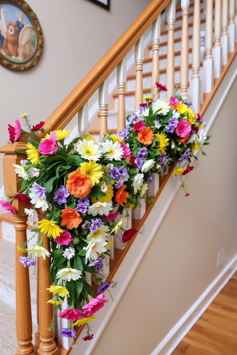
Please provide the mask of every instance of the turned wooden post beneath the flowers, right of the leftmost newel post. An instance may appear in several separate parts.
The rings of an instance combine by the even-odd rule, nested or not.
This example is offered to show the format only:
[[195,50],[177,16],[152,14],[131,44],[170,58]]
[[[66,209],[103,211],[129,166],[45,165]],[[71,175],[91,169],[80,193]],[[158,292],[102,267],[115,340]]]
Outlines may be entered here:
[[[37,210],[38,220],[41,221],[45,218],[46,213],[42,213],[41,210]],[[43,247],[50,252],[50,241],[47,235],[44,236]],[[53,305],[47,303],[48,300],[52,298],[52,294],[46,289],[52,285],[50,278],[51,258],[43,257],[38,258],[38,268],[39,268],[39,282],[38,282],[38,293],[39,293],[39,333],[40,333],[40,344],[37,354],[39,355],[58,355],[58,348],[56,347],[54,341],[54,331],[49,331],[49,327],[53,314]]]

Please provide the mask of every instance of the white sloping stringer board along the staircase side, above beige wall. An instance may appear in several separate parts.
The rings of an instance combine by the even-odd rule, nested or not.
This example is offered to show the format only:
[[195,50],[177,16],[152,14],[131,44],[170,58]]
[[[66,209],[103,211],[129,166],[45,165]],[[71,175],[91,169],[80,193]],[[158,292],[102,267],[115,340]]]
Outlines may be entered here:
[[[237,76],[237,56],[232,60],[230,67],[228,68],[226,75],[223,77],[219,87],[217,88],[208,108],[206,109],[203,115],[203,121],[206,122],[206,134],[210,130],[212,123],[214,122],[217,113],[225,100],[228,92],[231,89],[233,82]],[[126,286],[129,284],[136,268],[138,267],[142,257],[144,256],[153,236],[155,235],[160,223],[162,222],[163,217],[165,216],[171,202],[173,201],[174,196],[176,195],[180,186],[180,180],[178,178],[174,178],[171,175],[163,188],[160,196],[158,197],[154,208],[148,215],[145,223],[144,230],[141,233],[138,233],[133,244],[131,245],[128,253],[124,257],[122,263],[120,264],[118,271],[114,275],[114,280],[118,281],[118,286],[113,290],[113,297],[115,302],[109,297],[109,301],[106,305],[96,313],[96,319],[93,320],[93,339],[90,342],[85,342],[82,339],[82,336],[85,336],[85,330],[82,331],[79,339],[77,340],[78,348],[72,349],[71,354],[77,355],[78,350],[80,349],[81,355],[90,355],[94,346],[97,343],[100,335],[103,332],[104,327],[106,326],[109,318],[112,316],[115,307],[117,306],[120,298],[122,297]],[[155,223],[154,223],[155,221]],[[146,237],[145,237],[146,236]],[[197,305],[198,306],[198,305]],[[182,321],[179,320],[178,327],[175,328],[175,332],[178,332],[179,328],[186,321],[184,317],[182,317]],[[189,329],[187,330],[187,332]],[[84,334],[85,333],[85,334]],[[171,333],[171,332],[170,332]],[[167,334],[166,337],[158,344],[157,348],[159,352],[163,349],[163,347],[172,339],[174,334]],[[160,346],[161,345],[161,346]],[[158,354],[158,353],[157,353]]]

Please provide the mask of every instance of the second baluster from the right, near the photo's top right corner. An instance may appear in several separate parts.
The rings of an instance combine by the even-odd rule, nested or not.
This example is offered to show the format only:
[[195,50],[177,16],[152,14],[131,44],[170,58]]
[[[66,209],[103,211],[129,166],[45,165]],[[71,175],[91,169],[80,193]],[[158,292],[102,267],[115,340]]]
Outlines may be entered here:
[[228,0],[222,0],[222,17],[221,17],[221,48],[222,48],[222,65],[228,62]]

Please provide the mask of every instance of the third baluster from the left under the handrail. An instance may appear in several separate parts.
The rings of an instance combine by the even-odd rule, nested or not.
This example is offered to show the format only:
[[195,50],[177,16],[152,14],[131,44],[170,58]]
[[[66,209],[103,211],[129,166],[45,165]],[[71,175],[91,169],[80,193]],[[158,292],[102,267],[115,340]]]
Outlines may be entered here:
[[117,133],[125,128],[125,86],[127,82],[126,58],[117,66],[118,84],[118,124]]

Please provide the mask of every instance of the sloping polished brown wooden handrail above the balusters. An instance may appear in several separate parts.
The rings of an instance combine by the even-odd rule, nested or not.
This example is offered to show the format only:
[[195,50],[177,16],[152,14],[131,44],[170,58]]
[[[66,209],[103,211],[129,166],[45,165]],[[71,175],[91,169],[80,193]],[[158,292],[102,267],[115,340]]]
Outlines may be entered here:
[[79,109],[87,102],[100,84],[109,76],[129,50],[135,45],[147,28],[168,5],[169,0],[152,0],[141,15],[114,43],[107,53],[98,61],[90,72],[70,92],[45,120],[45,131],[52,128],[63,129],[75,116]]

